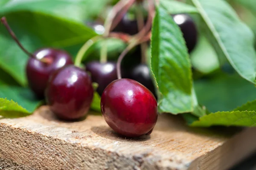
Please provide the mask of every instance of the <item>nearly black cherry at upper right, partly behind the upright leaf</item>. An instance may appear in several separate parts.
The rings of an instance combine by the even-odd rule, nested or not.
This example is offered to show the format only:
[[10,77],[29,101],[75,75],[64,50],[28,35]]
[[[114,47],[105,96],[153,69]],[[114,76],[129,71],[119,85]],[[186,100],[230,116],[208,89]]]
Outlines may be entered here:
[[195,48],[198,39],[198,31],[194,20],[188,14],[172,15],[175,23],[180,27],[189,53]]

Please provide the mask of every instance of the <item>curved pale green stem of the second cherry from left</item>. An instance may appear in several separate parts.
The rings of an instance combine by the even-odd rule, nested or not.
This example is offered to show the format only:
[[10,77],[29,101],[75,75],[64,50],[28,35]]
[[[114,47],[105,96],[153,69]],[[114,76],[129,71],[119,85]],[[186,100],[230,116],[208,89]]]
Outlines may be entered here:
[[84,45],[80,48],[80,50],[78,51],[77,55],[76,55],[76,59],[75,59],[75,65],[77,67],[80,67],[80,64],[82,62],[82,59],[84,57],[84,54],[86,53],[86,51],[98,40],[100,40],[102,37],[101,36],[96,36],[91,38],[90,40],[88,40],[87,42],[84,43]]

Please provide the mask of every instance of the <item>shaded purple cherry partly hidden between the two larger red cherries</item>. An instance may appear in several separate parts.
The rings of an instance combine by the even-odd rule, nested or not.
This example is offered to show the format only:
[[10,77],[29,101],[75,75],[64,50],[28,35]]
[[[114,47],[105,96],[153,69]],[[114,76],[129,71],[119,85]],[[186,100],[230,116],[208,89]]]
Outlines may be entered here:
[[117,79],[115,62],[89,62],[86,65],[86,71],[91,73],[92,81],[99,84],[97,88],[99,95],[102,95],[109,83]]

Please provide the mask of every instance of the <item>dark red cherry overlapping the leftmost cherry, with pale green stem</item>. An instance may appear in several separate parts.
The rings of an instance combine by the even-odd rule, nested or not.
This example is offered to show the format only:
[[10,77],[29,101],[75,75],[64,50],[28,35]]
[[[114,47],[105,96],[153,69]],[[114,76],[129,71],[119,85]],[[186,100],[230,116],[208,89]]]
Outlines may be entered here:
[[87,114],[93,100],[91,78],[83,69],[67,65],[51,75],[45,97],[59,118],[79,119]]

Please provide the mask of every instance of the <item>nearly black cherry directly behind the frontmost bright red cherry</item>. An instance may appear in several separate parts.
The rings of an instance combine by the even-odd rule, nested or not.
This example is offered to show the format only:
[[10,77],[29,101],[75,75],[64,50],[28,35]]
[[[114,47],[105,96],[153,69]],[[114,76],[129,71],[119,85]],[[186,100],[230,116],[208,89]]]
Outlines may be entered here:
[[139,64],[131,68],[128,78],[140,82],[142,85],[148,88],[148,90],[150,90],[155,97],[157,97],[155,93],[154,83],[151,79],[151,74],[147,65]]

